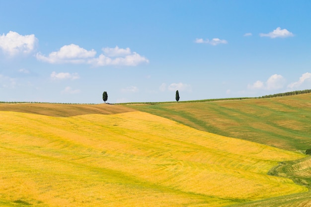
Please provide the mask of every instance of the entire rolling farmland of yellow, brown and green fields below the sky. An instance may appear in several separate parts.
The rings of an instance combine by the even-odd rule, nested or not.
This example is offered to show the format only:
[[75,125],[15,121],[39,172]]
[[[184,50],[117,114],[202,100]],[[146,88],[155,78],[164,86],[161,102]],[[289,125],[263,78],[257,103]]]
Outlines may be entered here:
[[310,207],[309,103],[0,104],[0,206]]

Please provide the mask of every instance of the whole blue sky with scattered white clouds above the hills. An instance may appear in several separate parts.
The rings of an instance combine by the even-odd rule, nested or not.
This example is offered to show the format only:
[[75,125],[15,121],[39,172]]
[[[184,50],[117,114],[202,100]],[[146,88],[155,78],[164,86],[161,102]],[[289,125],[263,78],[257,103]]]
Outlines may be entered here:
[[1,0],[0,101],[311,89],[310,0]]

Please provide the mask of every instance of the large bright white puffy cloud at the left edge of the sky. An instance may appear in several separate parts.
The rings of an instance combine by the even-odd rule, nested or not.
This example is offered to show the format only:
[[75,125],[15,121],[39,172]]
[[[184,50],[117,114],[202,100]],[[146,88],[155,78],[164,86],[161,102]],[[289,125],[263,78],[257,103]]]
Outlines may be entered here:
[[35,50],[37,42],[34,34],[20,35],[9,31],[6,35],[0,35],[0,49],[8,56],[30,54]]

